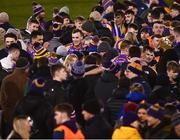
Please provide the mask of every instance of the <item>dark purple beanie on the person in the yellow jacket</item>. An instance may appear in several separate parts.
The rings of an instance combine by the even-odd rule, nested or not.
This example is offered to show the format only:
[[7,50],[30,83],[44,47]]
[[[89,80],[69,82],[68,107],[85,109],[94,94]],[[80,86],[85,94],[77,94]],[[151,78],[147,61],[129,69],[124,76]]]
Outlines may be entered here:
[[130,126],[136,120],[138,120],[138,116],[135,112],[127,112],[123,115],[123,126]]

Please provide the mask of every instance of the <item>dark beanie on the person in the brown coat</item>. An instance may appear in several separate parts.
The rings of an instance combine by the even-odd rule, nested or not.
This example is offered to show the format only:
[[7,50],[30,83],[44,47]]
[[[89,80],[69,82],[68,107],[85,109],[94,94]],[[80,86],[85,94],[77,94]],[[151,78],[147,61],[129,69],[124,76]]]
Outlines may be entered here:
[[26,69],[29,67],[29,61],[25,57],[20,57],[16,62],[16,69]]

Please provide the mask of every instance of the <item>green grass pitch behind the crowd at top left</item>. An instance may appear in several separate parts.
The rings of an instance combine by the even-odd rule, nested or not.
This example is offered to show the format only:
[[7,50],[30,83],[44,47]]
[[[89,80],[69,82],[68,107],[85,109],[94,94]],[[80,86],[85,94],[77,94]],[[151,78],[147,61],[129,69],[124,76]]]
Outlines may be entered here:
[[[34,0],[0,0],[0,12],[5,11],[10,16],[10,23],[17,28],[24,28],[27,19],[32,15],[32,1]],[[72,18],[83,15],[87,17],[97,0],[36,0],[44,6],[46,20],[52,17],[54,7],[68,6]]]

